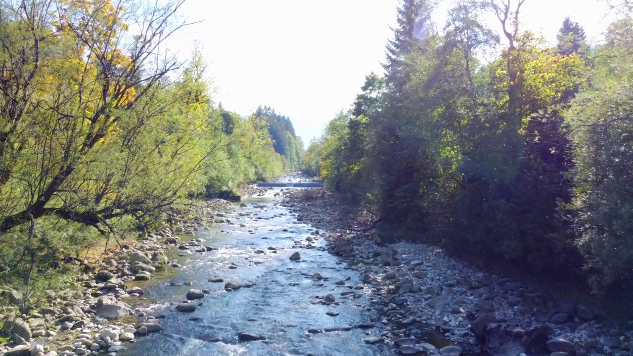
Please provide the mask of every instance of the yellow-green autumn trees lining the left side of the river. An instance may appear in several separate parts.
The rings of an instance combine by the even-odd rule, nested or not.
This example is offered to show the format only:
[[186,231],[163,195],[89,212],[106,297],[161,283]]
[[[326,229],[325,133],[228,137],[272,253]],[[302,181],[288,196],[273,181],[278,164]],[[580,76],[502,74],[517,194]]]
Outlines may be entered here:
[[0,284],[44,291],[65,256],[298,167],[287,118],[215,105],[200,51],[170,54],[181,5],[0,3]]

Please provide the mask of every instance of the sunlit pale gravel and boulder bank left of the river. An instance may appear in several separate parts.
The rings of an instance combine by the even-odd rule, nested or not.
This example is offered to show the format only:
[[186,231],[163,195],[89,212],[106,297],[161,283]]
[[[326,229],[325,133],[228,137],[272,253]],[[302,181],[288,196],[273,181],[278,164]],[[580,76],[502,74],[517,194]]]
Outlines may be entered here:
[[[87,265],[92,272],[78,275],[77,289],[49,291],[45,305],[28,314],[16,305],[9,306],[2,315],[2,326],[11,341],[0,346],[0,355],[112,356],[125,350],[125,342],[160,331],[159,319],[124,302],[130,297],[142,299],[144,294],[141,288],[127,284],[179,269],[175,258],[166,257],[166,246],[179,245],[181,253],[189,254],[209,250],[210,246],[197,241],[180,243],[179,236],[193,236],[195,231],[207,229],[218,210],[227,205],[230,203],[222,200],[201,202],[143,241],[104,252],[99,260]],[[16,303],[22,299],[17,291],[1,293]]]

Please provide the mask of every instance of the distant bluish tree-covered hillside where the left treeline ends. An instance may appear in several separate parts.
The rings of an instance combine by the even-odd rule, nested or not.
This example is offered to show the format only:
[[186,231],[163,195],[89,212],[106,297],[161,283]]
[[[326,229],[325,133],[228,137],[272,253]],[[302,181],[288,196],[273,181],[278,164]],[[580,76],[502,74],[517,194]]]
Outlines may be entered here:
[[303,141],[294,132],[290,118],[280,115],[269,106],[258,106],[254,117],[263,119],[268,124],[268,132],[273,141],[275,152],[282,155],[286,172],[301,169],[301,160],[305,149]]

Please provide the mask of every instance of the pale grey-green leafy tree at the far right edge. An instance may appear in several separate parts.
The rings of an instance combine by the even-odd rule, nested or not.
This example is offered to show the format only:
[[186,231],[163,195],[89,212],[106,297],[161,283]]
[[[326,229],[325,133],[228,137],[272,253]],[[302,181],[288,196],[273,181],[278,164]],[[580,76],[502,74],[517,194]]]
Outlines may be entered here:
[[633,48],[630,23],[624,18],[611,25],[589,85],[568,112],[575,144],[577,246],[596,288],[630,283],[633,277],[633,66],[624,54]]

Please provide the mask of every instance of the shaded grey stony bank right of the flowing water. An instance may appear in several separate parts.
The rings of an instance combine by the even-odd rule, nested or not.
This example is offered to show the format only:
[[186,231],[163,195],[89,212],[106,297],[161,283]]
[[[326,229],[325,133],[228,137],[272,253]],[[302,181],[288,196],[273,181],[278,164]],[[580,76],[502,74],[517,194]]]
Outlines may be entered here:
[[401,354],[630,355],[631,333],[608,329],[596,310],[549,301],[521,281],[473,269],[433,246],[377,245],[367,219],[323,189],[287,192],[298,219],[329,228],[330,252],[371,286],[384,331]]

